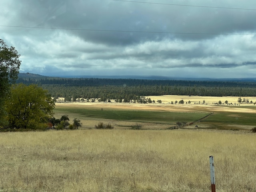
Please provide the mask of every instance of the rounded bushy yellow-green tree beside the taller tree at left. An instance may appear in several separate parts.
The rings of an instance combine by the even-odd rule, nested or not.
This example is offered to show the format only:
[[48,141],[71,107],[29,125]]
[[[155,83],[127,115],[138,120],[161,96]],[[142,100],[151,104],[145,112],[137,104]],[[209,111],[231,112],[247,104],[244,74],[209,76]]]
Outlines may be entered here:
[[45,128],[53,115],[54,101],[50,94],[35,84],[15,84],[6,99],[10,128]]

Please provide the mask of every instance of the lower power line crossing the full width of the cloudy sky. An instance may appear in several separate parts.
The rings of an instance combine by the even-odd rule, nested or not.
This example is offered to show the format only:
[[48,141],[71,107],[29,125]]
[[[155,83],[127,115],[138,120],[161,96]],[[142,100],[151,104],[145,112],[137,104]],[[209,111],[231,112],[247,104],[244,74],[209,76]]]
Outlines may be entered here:
[[32,29],[56,29],[56,30],[77,30],[77,31],[101,31],[101,32],[160,33],[160,34],[256,35],[256,34],[232,34],[232,33],[189,33],[189,32],[159,32],[159,31],[127,31],[127,30],[77,29],[77,28],[30,27],[30,26],[11,26],[11,25],[0,25],[0,27],[32,28]]

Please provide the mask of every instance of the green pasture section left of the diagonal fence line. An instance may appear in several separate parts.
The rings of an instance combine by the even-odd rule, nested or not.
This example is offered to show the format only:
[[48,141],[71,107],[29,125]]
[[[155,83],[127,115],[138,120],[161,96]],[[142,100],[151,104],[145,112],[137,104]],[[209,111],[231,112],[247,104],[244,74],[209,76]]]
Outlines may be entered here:
[[164,111],[140,111],[140,110],[99,110],[82,108],[58,108],[55,114],[77,115],[83,118],[111,119],[135,122],[156,122],[176,124],[176,122],[195,122],[209,115],[208,112],[164,112]]

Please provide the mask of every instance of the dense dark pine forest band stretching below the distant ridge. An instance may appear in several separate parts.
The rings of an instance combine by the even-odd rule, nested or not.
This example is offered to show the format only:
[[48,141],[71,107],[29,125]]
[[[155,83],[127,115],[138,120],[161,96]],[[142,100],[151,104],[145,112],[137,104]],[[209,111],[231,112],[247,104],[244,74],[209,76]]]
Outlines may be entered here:
[[100,98],[100,101],[138,101],[150,95],[256,96],[256,82],[147,80],[111,78],[57,78],[40,75],[20,76],[17,83],[38,84],[54,98]]

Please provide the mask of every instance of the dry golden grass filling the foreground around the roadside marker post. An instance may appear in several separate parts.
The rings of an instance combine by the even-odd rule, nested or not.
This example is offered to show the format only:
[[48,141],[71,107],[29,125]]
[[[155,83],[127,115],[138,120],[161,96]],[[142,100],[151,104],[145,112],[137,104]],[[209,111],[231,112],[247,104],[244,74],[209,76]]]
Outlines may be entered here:
[[256,191],[256,135],[211,130],[0,134],[0,192]]

